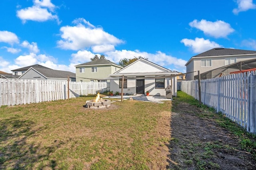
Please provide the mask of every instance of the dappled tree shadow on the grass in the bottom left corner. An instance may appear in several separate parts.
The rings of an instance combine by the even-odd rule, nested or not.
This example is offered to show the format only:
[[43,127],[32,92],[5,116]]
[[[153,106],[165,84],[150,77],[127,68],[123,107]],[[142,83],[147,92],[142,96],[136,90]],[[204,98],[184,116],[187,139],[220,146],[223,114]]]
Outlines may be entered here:
[[50,160],[49,155],[58,146],[42,147],[31,142],[40,131],[32,130],[34,126],[33,121],[19,116],[0,120],[0,169],[56,168],[56,161]]

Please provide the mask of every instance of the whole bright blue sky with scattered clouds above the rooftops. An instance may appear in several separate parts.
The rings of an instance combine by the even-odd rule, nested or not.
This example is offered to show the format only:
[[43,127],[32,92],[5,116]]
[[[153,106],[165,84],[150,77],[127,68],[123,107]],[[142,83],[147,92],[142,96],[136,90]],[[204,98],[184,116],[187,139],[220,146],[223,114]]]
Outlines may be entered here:
[[256,50],[255,0],[1,0],[0,70],[41,64],[75,72],[94,55],[142,56],[186,72],[194,55]]

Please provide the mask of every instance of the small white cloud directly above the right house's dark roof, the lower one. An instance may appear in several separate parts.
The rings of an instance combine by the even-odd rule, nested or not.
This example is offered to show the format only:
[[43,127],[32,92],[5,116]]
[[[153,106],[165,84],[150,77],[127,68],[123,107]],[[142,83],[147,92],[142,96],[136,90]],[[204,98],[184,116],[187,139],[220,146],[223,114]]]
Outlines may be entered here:
[[185,38],[185,39],[182,39],[180,42],[184,43],[186,47],[190,47],[193,53],[202,53],[209,49],[222,47],[222,45],[219,45],[214,41],[210,41],[209,39],[204,39],[204,38],[195,38],[194,40]]

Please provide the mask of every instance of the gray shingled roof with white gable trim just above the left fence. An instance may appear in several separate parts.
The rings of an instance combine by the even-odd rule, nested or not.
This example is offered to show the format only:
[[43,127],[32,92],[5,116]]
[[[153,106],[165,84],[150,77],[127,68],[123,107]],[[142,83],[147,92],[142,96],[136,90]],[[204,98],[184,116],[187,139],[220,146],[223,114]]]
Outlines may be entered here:
[[[76,74],[73,72],[70,72],[70,71],[53,70],[53,69],[49,69],[49,68],[36,68],[36,67],[34,67],[34,68],[30,67],[29,70],[30,69],[35,70],[36,72],[38,72],[39,74],[42,74],[46,78],[62,78],[62,79],[66,78],[67,79],[68,76],[70,78],[76,78]],[[26,73],[24,73],[24,74],[26,74]],[[20,77],[22,77],[22,76],[20,76]]]

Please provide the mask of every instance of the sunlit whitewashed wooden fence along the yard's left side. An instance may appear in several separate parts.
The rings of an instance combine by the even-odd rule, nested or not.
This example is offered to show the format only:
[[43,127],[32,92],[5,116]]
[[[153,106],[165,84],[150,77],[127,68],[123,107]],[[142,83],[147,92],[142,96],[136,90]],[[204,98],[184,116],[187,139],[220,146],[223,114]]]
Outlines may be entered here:
[[68,82],[0,79],[0,106],[14,106],[96,94],[107,89],[106,82]]

